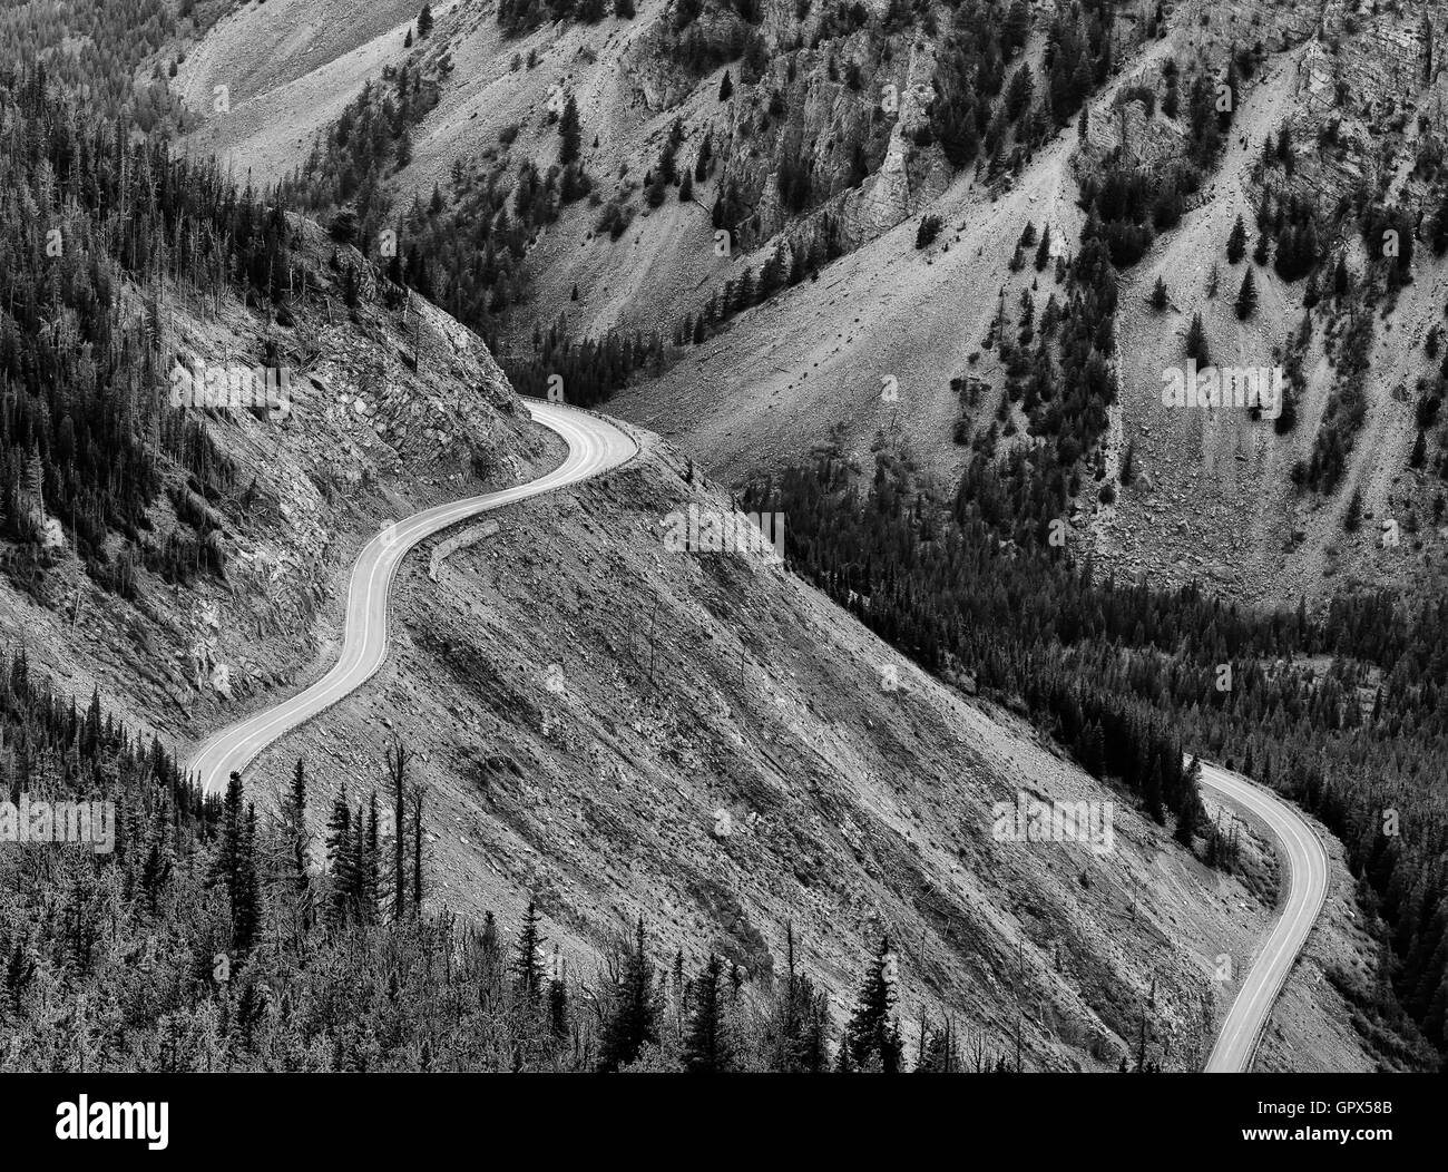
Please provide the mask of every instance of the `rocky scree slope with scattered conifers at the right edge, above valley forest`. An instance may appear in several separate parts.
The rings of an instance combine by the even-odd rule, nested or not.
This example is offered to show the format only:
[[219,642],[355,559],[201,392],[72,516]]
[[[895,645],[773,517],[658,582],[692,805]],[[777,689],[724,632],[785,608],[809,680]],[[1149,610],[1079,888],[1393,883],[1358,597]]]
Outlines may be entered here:
[[[1242,16],[1213,35],[1247,43],[1260,25]],[[1442,484],[1434,475],[1442,438],[1434,429],[1426,458],[1412,465],[1420,401],[1441,401],[1435,323],[1448,285],[1429,248],[1441,201],[1435,159],[1448,132],[1432,54],[1436,19],[1423,6],[1368,16],[1326,4],[1306,39],[1300,13],[1280,39],[1276,30],[1266,38],[1268,54],[1206,198],[1122,285],[1119,435],[1144,475],[1093,526],[1105,564],[1158,579],[1205,578],[1266,601],[1355,584],[1422,590],[1442,572]],[[1273,235],[1271,219],[1260,219],[1268,196],[1279,207],[1297,198],[1313,209],[1321,274],[1284,280],[1280,235],[1270,261],[1255,255],[1254,242]],[[1418,236],[1416,249],[1364,223],[1371,209],[1399,206],[1413,210],[1399,227]],[[1238,216],[1248,255],[1231,264],[1225,246]],[[1384,256],[1399,248],[1410,268],[1402,278],[1389,271],[1384,293],[1383,269],[1396,264]],[[1326,297],[1337,258],[1351,287]],[[1258,304],[1241,320],[1234,300],[1248,268]],[[1170,291],[1163,311],[1148,306],[1158,277]],[[1286,367],[1290,430],[1239,409],[1163,406],[1163,372],[1184,362],[1195,314],[1213,365]],[[1364,323],[1357,336],[1354,319]],[[1361,419],[1345,423],[1342,388],[1354,362],[1371,374]],[[1342,471],[1312,484],[1329,446],[1347,449]]]

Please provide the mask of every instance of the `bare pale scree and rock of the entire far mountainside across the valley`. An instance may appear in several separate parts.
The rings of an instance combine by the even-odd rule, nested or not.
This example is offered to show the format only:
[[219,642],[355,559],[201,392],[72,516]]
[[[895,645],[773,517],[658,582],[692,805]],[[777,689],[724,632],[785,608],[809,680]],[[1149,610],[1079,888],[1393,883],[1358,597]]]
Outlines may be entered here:
[[[491,10],[439,6],[433,39],[413,49],[403,46],[410,12],[394,4],[384,6],[385,28],[371,41],[361,42],[362,26],[326,20],[306,51],[282,39],[284,7],[223,22],[177,80],[194,104],[223,78],[239,78],[242,100],[211,117],[195,142],[264,178],[284,174],[303,149],[282,142],[278,126],[320,129],[384,64],[445,61],[439,101],[413,133],[411,161],[387,178],[400,206],[434,187],[450,191],[458,159],[547,167],[557,152],[559,103],[576,100],[592,196],[562,207],[531,238],[526,300],[500,325],[504,353],[526,353],[529,333],[560,313],[573,338],[640,326],[668,333],[725,281],[757,272],[831,217],[846,255],[818,280],[746,309],[702,345],[678,351],[665,369],[641,372],[617,401],[618,411],[730,481],[798,459],[841,424],[856,451],[882,427],[908,435],[917,456],[951,484],[969,458],[953,442],[956,420],[964,413],[976,432],[989,424],[1005,381],[988,345],[1001,307],[1014,322],[1022,294],[1037,314],[1050,294],[1064,297],[1051,265],[1014,268],[1027,225],[1050,226],[1053,256],[1074,255],[1086,220],[1083,177],[1114,159],[1160,171],[1187,149],[1184,112],[1166,110],[1164,94],[1176,84],[1169,74],[1180,77],[1184,101],[1190,78],[1219,84],[1232,58],[1248,62],[1232,78],[1232,129],[1202,190],[1186,200],[1180,223],[1157,233],[1147,256],[1122,272],[1119,409],[1102,455],[1116,474],[1129,445],[1132,469],[1144,475],[1116,504],[1092,494],[1079,501],[1080,540],[1124,572],[1205,578],[1268,600],[1316,597],[1344,581],[1426,581],[1441,562],[1434,469],[1442,438],[1432,427],[1428,459],[1409,468],[1418,406],[1434,394],[1444,300],[1442,262],[1425,246],[1441,196],[1448,84],[1438,51],[1445,28],[1431,4],[1182,3],[1163,6],[1160,25],[1154,10],[1115,6],[1115,68],[1089,101],[1085,138],[1067,126],[1014,174],[998,174],[982,158],[954,175],[928,133],[941,46],[964,35],[948,10],[898,25],[893,7],[864,6],[870,23],[851,30],[834,10],[799,6],[799,16],[765,6],[757,32],[772,52],[754,77],[747,59],[708,56],[707,46],[736,29],[737,17],[699,16],[689,28],[702,38],[698,49],[676,32],[675,4],[520,36],[504,36]],[[1037,6],[1018,58],[1037,77],[1045,72],[1051,12]],[[695,67],[691,52],[704,52],[708,68]],[[262,68],[264,58],[282,64]],[[725,71],[734,90],[721,100]],[[882,94],[893,96],[893,110],[879,109]],[[1284,132],[1290,164],[1276,158]],[[682,169],[705,139],[718,162],[692,200],[670,188],[650,207],[644,181],[670,135]],[[791,156],[812,177],[798,212],[780,196]],[[746,219],[720,255],[711,207],[727,183],[741,193]],[[1312,207],[1321,277],[1341,256],[1355,285],[1348,298],[1316,307],[1306,342],[1295,339],[1308,282],[1283,280],[1271,251],[1237,264],[1224,255],[1238,214],[1253,251],[1264,196]],[[633,213],[617,239],[599,230],[601,201]],[[1405,269],[1410,282],[1373,307],[1361,290],[1380,258],[1358,232],[1370,206],[1407,209],[1420,238]],[[924,214],[940,217],[946,230],[921,249]],[[1247,322],[1232,307],[1244,264],[1258,285]],[[1157,277],[1170,291],[1164,311],[1147,306]],[[1344,381],[1341,346],[1331,339],[1358,311],[1381,314],[1360,435],[1344,475],[1303,491],[1293,469],[1310,461]],[[1183,364],[1196,314],[1219,365],[1270,368],[1296,352],[1289,377],[1296,375],[1299,419],[1290,433],[1241,411],[1163,409],[1163,371]],[[980,388],[964,411],[961,382]],[[895,394],[882,395],[885,387]],[[1355,493],[1354,527],[1344,533]],[[1357,516],[1367,524],[1357,527]],[[1386,522],[1403,537],[1384,548]]]

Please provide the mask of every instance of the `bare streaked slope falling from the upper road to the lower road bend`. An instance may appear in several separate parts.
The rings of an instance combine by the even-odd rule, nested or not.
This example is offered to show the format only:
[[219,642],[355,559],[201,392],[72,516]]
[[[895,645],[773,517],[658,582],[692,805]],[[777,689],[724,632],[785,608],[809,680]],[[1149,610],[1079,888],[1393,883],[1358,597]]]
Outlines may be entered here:
[[[252,787],[281,790],[301,756],[319,811],[343,782],[381,788],[411,713],[434,901],[476,916],[534,898],[571,971],[641,916],[688,971],[714,949],[767,979],[792,923],[843,1020],[888,933],[908,1040],[948,1013],[967,1053],[1014,1063],[1019,1027],[1031,1069],[1114,1069],[1145,1016],[1148,1056],[1192,1068],[1241,976],[1216,979],[1218,958],[1250,956],[1276,879],[1184,858],[1011,711],[763,555],[670,552],[672,516],[730,503],[639,439],[602,481],[420,551],[382,672]],[[1112,804],[1112,847],[996,840],[995,804],[1021,794]],[[1326,1029],[1316,1060],[1373,1063]]]

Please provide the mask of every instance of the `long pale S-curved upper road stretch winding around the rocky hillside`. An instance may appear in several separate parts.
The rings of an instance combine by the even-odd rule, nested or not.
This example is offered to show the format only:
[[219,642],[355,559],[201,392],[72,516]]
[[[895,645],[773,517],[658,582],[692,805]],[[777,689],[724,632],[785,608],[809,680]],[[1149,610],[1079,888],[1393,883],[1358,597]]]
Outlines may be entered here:
[[524,400],[536,423],[568,445],[566,459],[547,475],[478,497],[439,504],[394,522],[362,546],[348,585],[348,619],[342,655],[319,681],[279,704],[207,737],[187,762],[206,792],[223,792],[235,771],[245,769],[266,746],[359,688],[387,658],[387,600],[407,552],[424,537],[458,522],[597,477],[637,453],[634,442],[599,416],[539,400]]

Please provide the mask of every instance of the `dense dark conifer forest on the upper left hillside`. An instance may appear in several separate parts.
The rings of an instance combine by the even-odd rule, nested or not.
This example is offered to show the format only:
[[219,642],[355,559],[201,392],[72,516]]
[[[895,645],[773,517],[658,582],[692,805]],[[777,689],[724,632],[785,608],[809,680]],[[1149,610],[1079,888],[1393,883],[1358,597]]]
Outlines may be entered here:
[[[0,119],[4,572],[43,597],[64,543],[55,526],[123,595],[140,564],[172,581],[224,572],[201,501],[219,500],[235,469],[194,414],[164,403],[165,290],[284,301],[287,214],[213,162],[83,113],[43,68],[0,74]],[[162,535],[149,508],[167,485],[180,523]]]

